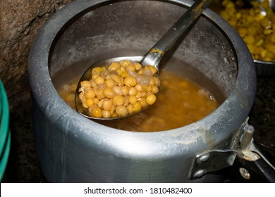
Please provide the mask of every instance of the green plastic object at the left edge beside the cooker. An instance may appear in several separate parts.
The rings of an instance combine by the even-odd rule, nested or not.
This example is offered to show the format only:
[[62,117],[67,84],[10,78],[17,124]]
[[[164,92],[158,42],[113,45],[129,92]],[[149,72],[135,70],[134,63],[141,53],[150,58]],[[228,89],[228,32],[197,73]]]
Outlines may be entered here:
[[8,156],[11,148],[11,132],[9,129],[8,98],[4,84],[0,80],[0,180],[2,182],[6,172]]

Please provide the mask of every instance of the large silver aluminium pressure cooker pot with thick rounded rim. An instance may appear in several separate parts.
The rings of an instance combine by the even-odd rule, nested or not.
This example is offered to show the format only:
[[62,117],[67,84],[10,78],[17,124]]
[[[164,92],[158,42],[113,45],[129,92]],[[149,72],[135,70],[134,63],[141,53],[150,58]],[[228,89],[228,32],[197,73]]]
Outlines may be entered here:
[[202,172],[196,157],[219,150],[219,162],[232,165],[235,153],[226,151],[239,148],[256,78],[243,40],[209,9],[163,65],[206,87],[221,102],[202,120],[169,131],[128,132],[82,117],[56,91],[95,61],[142,56],[191,4],[73,1],[42,27],[30,52],[28,74],[35,143],[49,182],[221,181],[212,172],[224,165]]

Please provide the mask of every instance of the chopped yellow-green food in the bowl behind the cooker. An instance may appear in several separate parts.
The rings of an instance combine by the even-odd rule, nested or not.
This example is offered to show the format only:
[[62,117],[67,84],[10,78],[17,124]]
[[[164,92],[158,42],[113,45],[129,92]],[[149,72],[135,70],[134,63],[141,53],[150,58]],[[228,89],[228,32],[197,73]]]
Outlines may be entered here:
[[240,34],[252,58],[275,62],[275,14],[269,1],[250,1],[252,8],[244,8],[243,0],[224,0],[221,4],[224,10],[219,15]]

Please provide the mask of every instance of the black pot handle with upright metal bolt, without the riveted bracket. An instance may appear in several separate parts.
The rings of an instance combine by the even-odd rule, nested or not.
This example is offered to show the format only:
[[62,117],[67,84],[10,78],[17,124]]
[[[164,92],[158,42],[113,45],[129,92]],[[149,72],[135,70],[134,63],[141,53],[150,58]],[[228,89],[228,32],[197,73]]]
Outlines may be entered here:
[[247,125],[240,138],[243,147],[238,150],[231,174],[240,182],[275,182],[274,158],[252,138],[253,133],[254,127]]

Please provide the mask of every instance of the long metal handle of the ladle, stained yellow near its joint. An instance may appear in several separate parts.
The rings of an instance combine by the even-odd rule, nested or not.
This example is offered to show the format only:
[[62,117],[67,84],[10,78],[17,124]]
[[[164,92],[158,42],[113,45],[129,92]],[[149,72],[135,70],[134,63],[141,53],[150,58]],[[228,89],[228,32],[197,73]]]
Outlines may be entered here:
[[166,51],[169,51],[176,43],[179,37],[188,30],[188,27],[195,22],[212,0],[197,0],[181,16],[180,19],[164,34],[159,41],[145,54],[140,62],[142,65],[154,65],[159,70],[159,62]]

